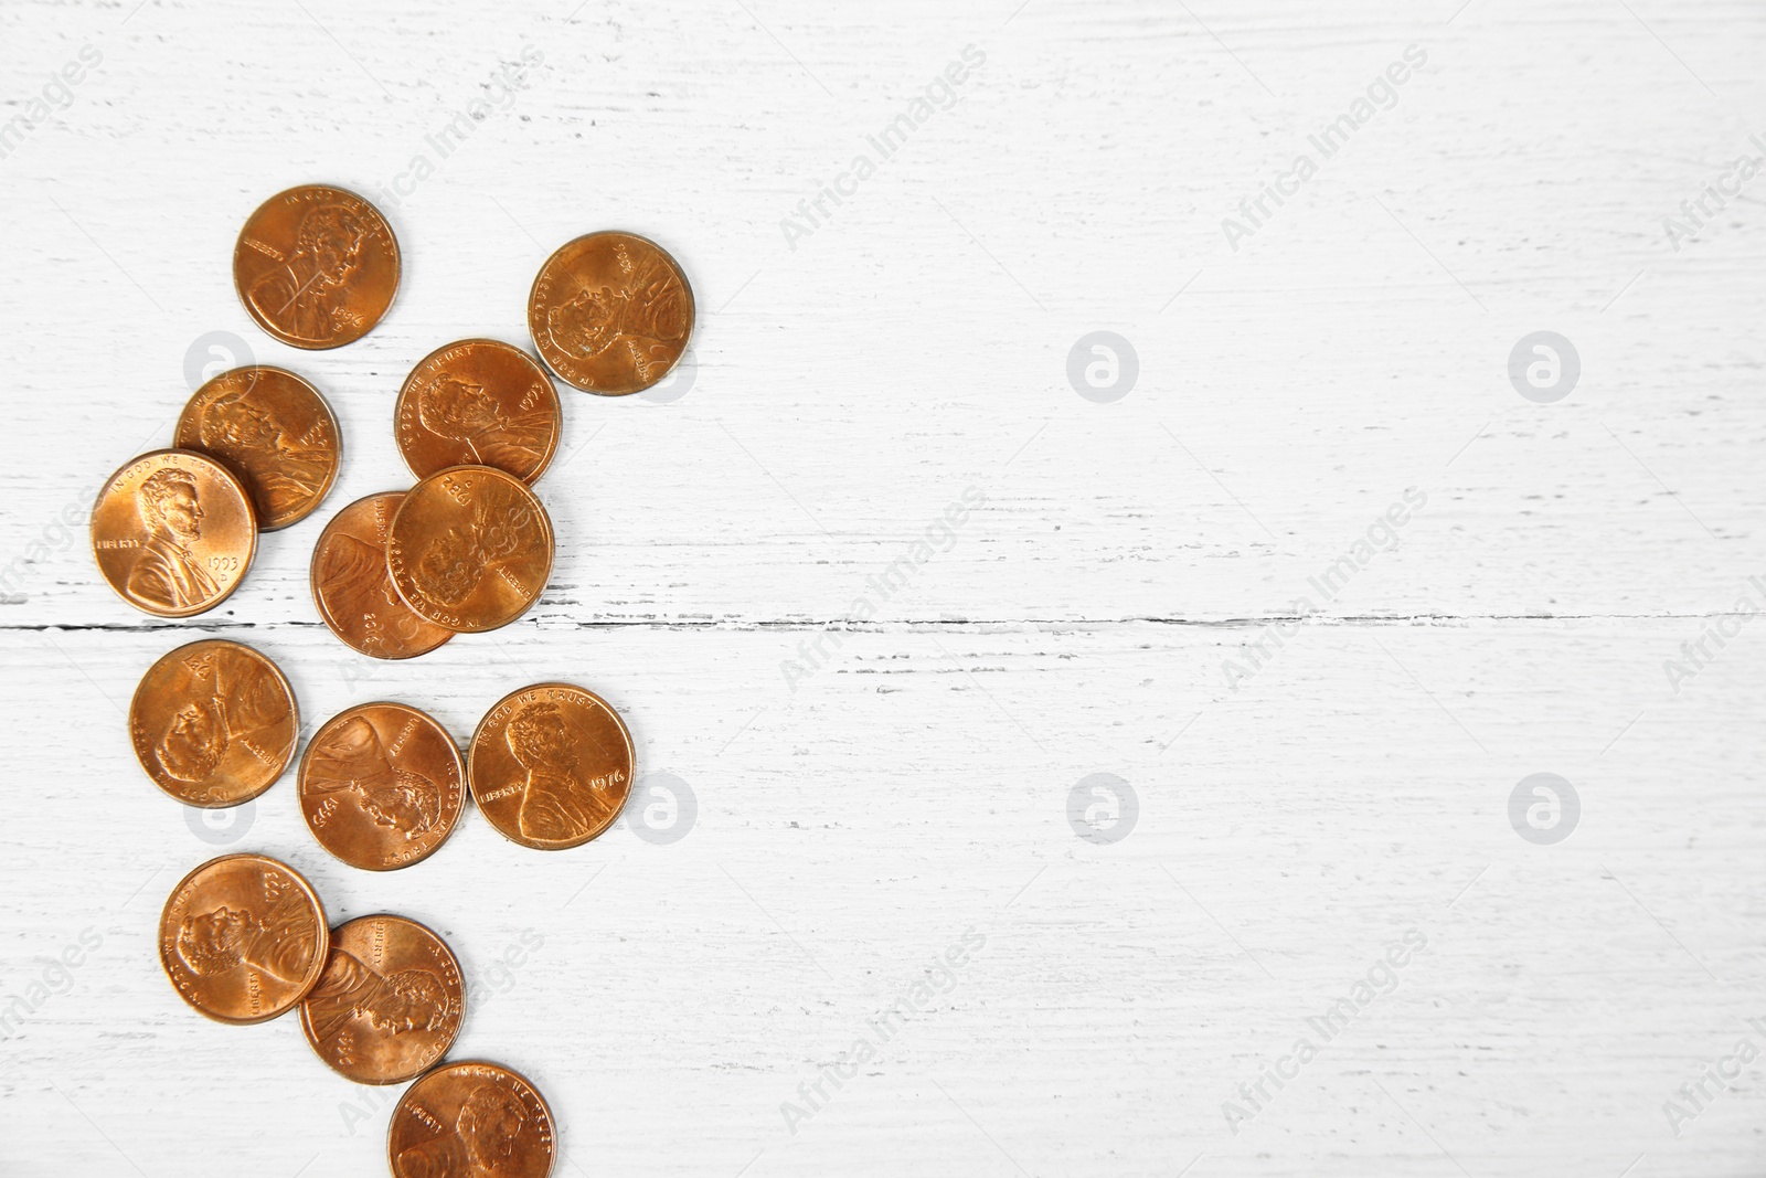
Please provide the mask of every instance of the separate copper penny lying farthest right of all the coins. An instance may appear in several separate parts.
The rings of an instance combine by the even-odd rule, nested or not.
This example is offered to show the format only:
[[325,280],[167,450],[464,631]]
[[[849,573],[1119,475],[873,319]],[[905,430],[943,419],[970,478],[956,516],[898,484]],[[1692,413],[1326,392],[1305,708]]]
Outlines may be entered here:
[[528,330],[558,376],[625,396],[669,374],[692,336],[692,288],[668,251],[632,233],[590,233],[546,260]]

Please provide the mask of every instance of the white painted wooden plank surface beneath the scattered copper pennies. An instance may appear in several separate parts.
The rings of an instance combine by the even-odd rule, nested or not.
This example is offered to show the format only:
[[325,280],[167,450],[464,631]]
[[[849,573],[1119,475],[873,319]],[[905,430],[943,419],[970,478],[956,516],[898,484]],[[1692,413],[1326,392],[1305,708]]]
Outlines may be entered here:
[[[226,850],[442,931],[454,1056],[539,1083],[563,1174],[1766,1167],[1759,5],[572,4],[0,9],[0,1173],[381,1173],[397,1090],[161,975],[166,892]],[[330,353],[230,281],[302,182],[404,251]],[[307,560],[408,484],[399,381],[528,343],[535,268],[599,228],[687,268],[683,381],[563,390],[532,615],[357,657]],[[1068,380],[1097,330],[1137,362],[1107,403]],[[1554,403],[1508,373],[1542,330],[1581,366]],[[85,514],[240,344],[318,383],[346,464],[221,609],[157,622]],[[390,698],[466,738],[572,680],[650,777],[590,846],[468,812],[392,874],[321,851],[291,781],[192,827],[124,708],[207,634],[313,722]],[[1581,805],[1549,844],[1510,818],[1542,772]],[[1075,828],[1095,774],[1120,818],[1088,784]],[[630,827],[660,786],[673,842]]]

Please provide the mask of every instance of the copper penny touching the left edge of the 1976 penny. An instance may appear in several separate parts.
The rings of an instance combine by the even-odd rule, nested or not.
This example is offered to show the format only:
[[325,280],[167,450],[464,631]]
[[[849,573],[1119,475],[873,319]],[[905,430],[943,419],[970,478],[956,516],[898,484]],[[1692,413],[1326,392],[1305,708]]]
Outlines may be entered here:
[[466,809],[447,729],[403,703],[339,712],[300,758],[300,814],[327,851],[364,871],[429,858]]

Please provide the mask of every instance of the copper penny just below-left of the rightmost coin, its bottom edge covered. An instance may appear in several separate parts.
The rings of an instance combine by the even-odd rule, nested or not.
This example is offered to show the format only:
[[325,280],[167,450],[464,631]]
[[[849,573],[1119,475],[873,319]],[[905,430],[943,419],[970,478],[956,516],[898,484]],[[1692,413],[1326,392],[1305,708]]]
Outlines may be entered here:
[[417,362],[392,422],[419,479],[449,466],[496,466],[533,482],[558,449],[563,412],[551,376],[526,351],[461,339]]

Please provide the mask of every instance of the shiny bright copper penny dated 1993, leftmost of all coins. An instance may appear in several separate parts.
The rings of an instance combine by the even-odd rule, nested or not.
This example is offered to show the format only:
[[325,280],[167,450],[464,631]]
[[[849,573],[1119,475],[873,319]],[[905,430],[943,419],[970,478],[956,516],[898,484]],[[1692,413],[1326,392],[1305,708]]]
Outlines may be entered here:
[[161,618],[219,606],[256,551],[244,484],[207,454],[143,454],[109,477],[92,509],[99,572],[125,602]]

